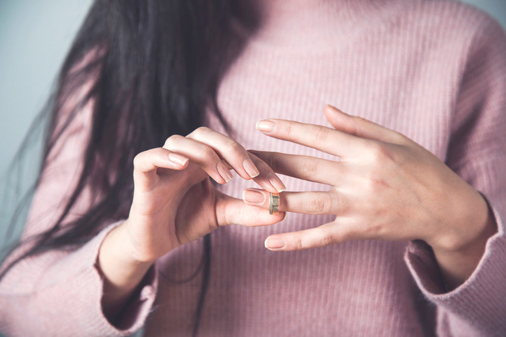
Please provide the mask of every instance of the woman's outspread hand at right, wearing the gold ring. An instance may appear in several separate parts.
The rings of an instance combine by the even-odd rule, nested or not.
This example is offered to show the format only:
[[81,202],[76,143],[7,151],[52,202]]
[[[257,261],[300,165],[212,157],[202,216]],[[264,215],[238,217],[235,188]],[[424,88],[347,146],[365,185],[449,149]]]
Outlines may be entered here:
[[[456,256],[465,261],[474,257],[463,272],[448,266],[449,279],[458,282],[472,273],[495,231],[482,195],[409,138],[331,106],[325,115],[335,129],[279,119],[257,124],[265,135],[340,158],[251,151],[278,173],[331,187],[325,192],[283,192],[280,211],[336,215],[316,228],[270,236],[266,247],[298,250],[347,240],[421,239],[433,247],[443,269],[458,262]],[[264,194],[265,201],[248,202],[255,193]],[[267,195],[248,189],[243,199],[268,208]]]

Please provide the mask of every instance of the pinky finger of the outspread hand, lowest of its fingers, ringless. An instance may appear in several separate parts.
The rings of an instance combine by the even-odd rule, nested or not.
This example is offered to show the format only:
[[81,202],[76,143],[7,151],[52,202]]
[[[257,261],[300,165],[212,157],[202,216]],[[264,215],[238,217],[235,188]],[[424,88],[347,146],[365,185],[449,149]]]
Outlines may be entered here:
[[273,251],[302,250],[330,246],[350,240],[344,227],[330,222],[324,225],[269,236],[265,240],[265,248]]

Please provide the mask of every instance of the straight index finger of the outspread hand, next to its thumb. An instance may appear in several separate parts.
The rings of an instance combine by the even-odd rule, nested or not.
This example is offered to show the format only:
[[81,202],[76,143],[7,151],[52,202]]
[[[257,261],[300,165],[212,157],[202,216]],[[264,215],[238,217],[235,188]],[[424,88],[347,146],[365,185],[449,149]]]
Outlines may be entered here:
[[257,122],[257,129],[267,136],[306,145],[343,158],[357,154],[368,141],[323,125],[285,119],[261,120]]

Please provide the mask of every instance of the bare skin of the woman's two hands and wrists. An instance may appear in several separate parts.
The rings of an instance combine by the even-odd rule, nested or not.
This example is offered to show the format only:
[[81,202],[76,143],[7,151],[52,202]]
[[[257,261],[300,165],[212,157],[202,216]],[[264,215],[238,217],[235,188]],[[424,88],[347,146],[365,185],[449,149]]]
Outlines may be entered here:
[[[219,226],[274,224],[285,212],[336,218],[316,228],[272,235],[265,241],[270,250],[360,239],[419,239],[432,246],[449,288],[466,280],[497,231],[482,195],[409,138],[331,106],[325,107],[325,116],[334,128],[279,119],[260,121],[257,128],[267,136],[337,155],[339,162],[246,151],[206,127],[139,153],[129,218],[109,232],[98,253],[105,316],[114,324],[146,271],[172,249]],[[243,200],[220,193],[209,177],[225,184],[231,169],[261,188],[247,189]],[[274,172],[330,189],[283,192]],[[281,192],[280,214],[269,215],[269,192]]]

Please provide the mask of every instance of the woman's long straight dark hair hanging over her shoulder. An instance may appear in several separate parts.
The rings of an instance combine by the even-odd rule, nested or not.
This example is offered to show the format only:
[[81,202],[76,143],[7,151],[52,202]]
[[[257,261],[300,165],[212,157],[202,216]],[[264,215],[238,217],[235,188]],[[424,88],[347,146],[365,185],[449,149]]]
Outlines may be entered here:
[[[161,146],[171,135],[190,133],[203,124],[207,108],[228,128],[217,107],[216,91],[234,55],[231,20],[229,0],[93,3],[47,105],[50,120],[43,151],[45,161],[75,115],[92,100],[82,172],[56,223],[29,238],[36,244],[0,278],[23,258],[53,249],[73,250],[95,236],[106,220],[128,217],[137,153]],[[63,116],[65,101],[86,83],[91,83],[90,89]],[[43,168],[44,164],[36,184]],[[85,214],[64,224],[85,188],[96,201]],[[207,253],[194,334],[207,289],[209,240],[209,236],[204,240]]]

